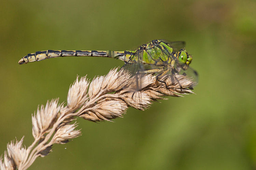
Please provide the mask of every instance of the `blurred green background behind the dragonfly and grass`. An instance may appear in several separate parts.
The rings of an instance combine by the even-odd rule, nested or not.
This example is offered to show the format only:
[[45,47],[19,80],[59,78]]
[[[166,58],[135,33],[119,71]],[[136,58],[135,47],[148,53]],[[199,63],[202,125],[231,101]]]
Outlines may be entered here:
[[78,119],[83,135],[30,169],[256,169],[255,8],[255,0],[2,1],[0,153],[15,137],[32,143],[31,113],[52,98],[66,101],[76,75],[123,65],[100,57],[18,65],[27,53],[185,40],[199,73],[196,95],[129,108],[114,123]]

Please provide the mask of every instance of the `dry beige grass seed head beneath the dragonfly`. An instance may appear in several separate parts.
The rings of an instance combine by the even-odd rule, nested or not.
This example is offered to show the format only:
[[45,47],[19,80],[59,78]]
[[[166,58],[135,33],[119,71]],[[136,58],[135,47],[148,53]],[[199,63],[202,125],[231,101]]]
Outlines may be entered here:
[[[166,82],[165,83],[162,83]],[[58,99],[48,101],[45,106],[38,107],[32,115],[32,135],[34,142],[27,149],[22,147],[24,137],[7,145],[4,161],[0,157],[0,169],[27,169],[37,157],[44,157],[52,152],[54,143],[63,144],[81,135],[75,130],[76,117],[85,120],[111,121],[122,117],[127,108],[144,110],[152,101],[165,96],[181,97],[181,94],[193,93],[189,88],[195,86],[192,78],[184,75],[165,75],[156,80],[153,74],[138,78],[117,68],[110,70],[105,76],[94,78],[89,86],[86,77],[76,81],[69,88],[67,105],[59,104]]]

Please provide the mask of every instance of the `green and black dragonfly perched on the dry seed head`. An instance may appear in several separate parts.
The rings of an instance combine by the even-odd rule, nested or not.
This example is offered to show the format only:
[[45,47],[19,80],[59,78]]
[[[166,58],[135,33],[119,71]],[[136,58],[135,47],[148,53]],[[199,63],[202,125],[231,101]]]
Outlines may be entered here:
[[[18,63],[27,64],[30,62],[45,60],[47,58],[65,56],[93,56],[119,59],[125,62],[125,65],[122,68],[130,70],[130,72],[136,74],[137,77],[140,74],[152,73],[156,74],[157,80],[162,83],[165,82],[161,81],[159,78],[163,77],[167,73],[171,73],[171,75],[186,75],[186,72],[190,72],[191,77],[193,77],[195,81],[197,81],[198,78],[198,73],[189,67],[193,57],[185,50],[184,41],[170,42],[168,40],[156,39],[147,44],[141,45],[134,51],[37,51],[35,53],[27,54],[21,58]],[[193,87],[190,89],[193,89]]]

